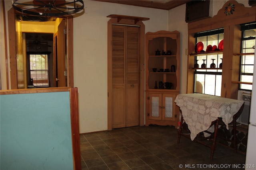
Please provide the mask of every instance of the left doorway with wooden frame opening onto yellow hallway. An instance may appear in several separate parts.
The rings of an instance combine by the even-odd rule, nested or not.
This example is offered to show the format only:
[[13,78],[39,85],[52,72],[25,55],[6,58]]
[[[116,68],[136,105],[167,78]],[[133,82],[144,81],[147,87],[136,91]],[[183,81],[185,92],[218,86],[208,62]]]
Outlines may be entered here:
[[[36,83],[37,87],[47,87],[46,81],[48,81],[48,87],[74,86],[73,43],[69,43],[73,42],[72,16],[50,18],[50,20],[48,17],[21,17],[11,8],[8,11],[8,27],[10,89],[28,88],[31,84],[31,71],[38,72],[38,75],[41,72],[41,78],[36,81],[43,84],[40,86],[40,83]],[[46,39],[42,38],[43,36]],[[44,49],[44,45],[47,45],[48,49]],[[31,70],[28,62],[29,55],[47,55],[48,67]],[[56,74],[57,72],[59,75]],[[46,80],[46,74],[48,74],[48,80]]]

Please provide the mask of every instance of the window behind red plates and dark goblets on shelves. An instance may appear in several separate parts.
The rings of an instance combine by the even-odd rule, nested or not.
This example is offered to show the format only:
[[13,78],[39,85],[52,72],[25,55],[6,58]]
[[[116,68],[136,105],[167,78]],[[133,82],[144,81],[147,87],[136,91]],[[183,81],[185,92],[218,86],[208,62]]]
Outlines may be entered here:
[[[219,67],[222,63],[222,52],[212,51],[208,53],[209,47],[217,47],[224,37],[224,29],[216,29],[204,31],[194,34],[196,44],[202,42],[204,45],[203,51],[195,56],[195,64],[199,65],[194,71],[194,91],[202,94],[210,94],[214,96],[221,95],[222,69]],[[220,49],[218,49],[220,50]],[[207,52],[207,53],[204,53]],[[215,68],[211,68],[211,64],[215,64]],[[202,67],[206,64],[206,68]]]

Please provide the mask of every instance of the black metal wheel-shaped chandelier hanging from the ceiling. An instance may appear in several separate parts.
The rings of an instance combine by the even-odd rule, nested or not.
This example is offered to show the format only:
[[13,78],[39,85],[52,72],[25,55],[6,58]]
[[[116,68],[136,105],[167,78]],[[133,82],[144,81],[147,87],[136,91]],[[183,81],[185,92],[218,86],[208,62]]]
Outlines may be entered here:
[[22,14],[66,16],[84,8],[83,0],[15,0],[12,7]]

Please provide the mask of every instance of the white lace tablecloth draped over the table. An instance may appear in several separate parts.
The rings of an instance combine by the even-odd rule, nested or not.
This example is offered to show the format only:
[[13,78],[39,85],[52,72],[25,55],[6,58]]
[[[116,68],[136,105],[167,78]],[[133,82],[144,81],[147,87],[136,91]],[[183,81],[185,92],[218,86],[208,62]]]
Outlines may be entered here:
[[244,101],[211,96],[207,94],[179,94],[175,99],[180,107],[184,121],[191,132],[193,141],[200,132],[209,129],[212,121],[222,117],[226,124],[232,122],[233,116],[238,112]]

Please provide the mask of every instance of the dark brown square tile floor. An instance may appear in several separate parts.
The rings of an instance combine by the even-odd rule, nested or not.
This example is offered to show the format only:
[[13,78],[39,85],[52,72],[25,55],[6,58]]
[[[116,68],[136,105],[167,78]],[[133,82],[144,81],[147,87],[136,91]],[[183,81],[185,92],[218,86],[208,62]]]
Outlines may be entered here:
[[[172,126],[142,126],[80,135],[82,170],[243,169],[245,155],[210,148],[181,137]],[[235,168],[238,167],[238,168]]]

